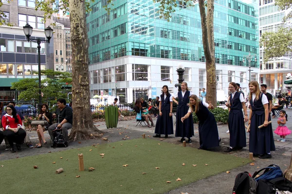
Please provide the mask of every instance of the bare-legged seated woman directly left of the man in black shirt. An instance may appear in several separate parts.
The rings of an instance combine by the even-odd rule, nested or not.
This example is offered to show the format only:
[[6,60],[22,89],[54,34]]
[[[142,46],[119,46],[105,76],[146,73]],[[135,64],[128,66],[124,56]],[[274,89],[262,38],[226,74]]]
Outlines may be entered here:
[[49,112],[49,107],[47,104],[43,104],[41,106],[41,112],[38,115],[37,119],[38,120],[45,120],[48,122],[47,125],[45,125],[45,126],[41,126],[41,125],[37,126],[37,136],[38,136],[38,141],[39,141],[37,148],[40,148],[42,146],[42,142],[44,144],[47,144],[45,137],[44,137],[44,131],[47,130],[50,125],[53,124],[52,113]]

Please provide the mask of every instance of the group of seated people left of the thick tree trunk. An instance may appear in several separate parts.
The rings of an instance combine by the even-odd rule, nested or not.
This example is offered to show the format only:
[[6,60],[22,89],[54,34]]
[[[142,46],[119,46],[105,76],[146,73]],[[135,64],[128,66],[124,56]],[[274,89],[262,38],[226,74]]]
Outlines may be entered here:
[[[29,148],[40,148],[43,144],[47,144],[44,138],[44,131],[48,130],[51,139],[54,140],[54,130],[62,130],[64,141],[68,145],[68,129],[72,128],[73,123],[73,110],[70,106],[66,105],[66,100],[60,98],[57,100],[57,109],[54,113],[49,111],[47,104],[41,106],[41,112],[37,116],[37,120],[43,120],[44,124],[37,125],[38,144],[33,146],[30,137],[27,134],[24,126],[23,114],[15,109],[15,102],[11,101],[5,109],[2,110],[1,124],[2,131],[0,130],[0,144],[5,140],[6,150],[15,151],[14,143],[17,150],[21,150],[21,145],[25,143]],[[56,118],[56,123],[53,124],[53,117]],[[53,145],[52,145],[53,147]]]

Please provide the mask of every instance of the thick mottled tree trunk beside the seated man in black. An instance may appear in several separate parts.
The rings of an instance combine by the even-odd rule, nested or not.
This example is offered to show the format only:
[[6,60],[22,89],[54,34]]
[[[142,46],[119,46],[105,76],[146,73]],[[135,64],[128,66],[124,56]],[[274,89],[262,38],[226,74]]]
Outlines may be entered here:
[[94,127],[90,107],[85,1],[69,0],[69,7],[73,58],[73,126],[69,139],[76,141],[100,136],[100,131]]

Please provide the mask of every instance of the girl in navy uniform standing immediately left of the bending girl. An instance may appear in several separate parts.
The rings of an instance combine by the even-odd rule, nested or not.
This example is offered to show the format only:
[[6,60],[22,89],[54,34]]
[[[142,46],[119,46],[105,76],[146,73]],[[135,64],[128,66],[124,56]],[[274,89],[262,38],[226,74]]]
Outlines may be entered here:
[[[188,103],[190,101],[189,97],[193,95],[193,93],[188,90],[186,82],[182,82],[181,88],[182,91],[178,92],[174,97],[172,97],[172,100],[178,104],[175,136],[182,137],[181,142],[185,141],[184,137],[187,137],[187,143],[191,143],[191,137],[194,135],[193,118],[189,117],[184,122],[180,122],[180,118],[182,118],[188,112]],[[178,101],[175,99],[177,97],[179,97]]]

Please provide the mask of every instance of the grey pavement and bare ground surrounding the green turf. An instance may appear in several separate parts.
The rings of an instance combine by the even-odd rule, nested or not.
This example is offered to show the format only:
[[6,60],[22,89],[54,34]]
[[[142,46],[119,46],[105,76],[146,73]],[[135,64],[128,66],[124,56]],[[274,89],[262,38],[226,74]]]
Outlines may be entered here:
[[[288,122],[286,126],[288,129],[292,129],[292,109],[284,109],[288,115]],[[249,110],[248,110],[249,113]],[[176,122],[175,116],[173,116],[174,123]],[[153,118],[154,124],[156,124],[156,118]],[[115,141],[123,141],[122,139],[125,139],[125,135],[128,136],[129,139],[134,138],[140,138],[143,133],[147,135],[147,138],[153,138],[152,135],[154,135],[155,127],[148,128],[147,126],[136,126],[137,121],[134,119],[134,117],[120,117],[118,121],[117,129],[107,129],[105,121],[95,121],[94,125],[101,131],[104,132],[104,137],[107,137],[109,139],[108,142],[103,141],[101,139],[99,140],[87,140],[82,141],[82,144],[78,144],[78,142],[72,142],[69,144],[69,147],[67,148],[56,148],[53,149],[50,147],[50,136],[47,131],[45,131],[44,135],[48,142],[47,145],[44,145],[42,148],[33,148],[29,149],[26,146],[23,146],[23,150],[15,153],[10,153],[9,151],[5,151],[4,148],[4,142],[0,145],[0,162],[1,160],[8,160],[8,159],[15,159],[19,157],[24,156],[32,156],[37,154],[44,154],[48,153],[48,151],[56,152],[56,151],[62,151],[62,150],[68,150],[73,148],[78,148],[81,146],[90,146],[93,143],[100,143],[100,144],[106,144],[109,142],[115,142]],[[247,124],[246,124],[247,125]],[[272,119],[272,126],[273,130],[277,127],[277,118]],[[174,125],[175,130],[175,125]],[[218,124],[218,131],[219,131],[219,137],[222,139],[220,142],[220,146],[218,148],[211,149],[209,151],[216,151],[220,152],[222,154],[231,154],[236,157],[249,157],[249,151],[248,151],[248,142],[249,142],[249,134],[246,135],[246,141],[247,141],[247,147],[243,148],[241,151],[233,151],[230,153],[225,153],[224,150],[226,147],[229,146],[229,133],[226,133],[228,130],[227,125]],[[121,132],[124,132],[123,135],[121,135]],[[187,146],[197,148],[199,147],[199,131],[198,131],[198,124],[194,124],[194,132],[195,135],[192,137],[192,143],[187,144]],[[175,132],[174,132],[175,133]],[[31,131],[29,132],[29,136],[31,138],[31,141],[33,144],[38,143],[37,138],[37,132]],[[150,137],[149,137],[150,136]],[[163,136],[162,136],[163,137]],[[274,139],[278,139],[279,137],[274,134]],[[156,139],[156,138],[153,138]],[[181,144],[179,140],[181,137],[174,137],[174,135],[169,135],[168,139],[164,139],[163,141],[173,143],[173,144]],[[157,138],[158,141],[160,141],[160,138]],[[127,141],[127,139],[125,140]],[[167,192],[167,194],[181,194],[181,193],[188,193],[188,194],[229,194],[232,193],[232,188],[234,186],[234,180],[238,173],[248,171],[251,174],[253,174],[255,171],[267,167],[270,164],[277,164],[280,166],[282,171],[290,165],[291,160],[291,152],[292,152],[292,134],[288,135],[286,137],[286,142],[277,142],[274,141],[276,146],[276,151],[272,151],[271,154],[273,156],[272,159],[258,159],[254,158],[254,165],[246,164],[244,166],[235,168],[230,170],[230,173],[222,172],[218,175],[204,178],[201,180],[198,180],[196,182],[193,182],[191,184],[188,184],[186,186],[177,188],[175,190]],[[228,165],[228,164],[226,164]],[[212,185],[212,187],[210,187]]]

